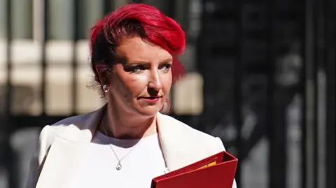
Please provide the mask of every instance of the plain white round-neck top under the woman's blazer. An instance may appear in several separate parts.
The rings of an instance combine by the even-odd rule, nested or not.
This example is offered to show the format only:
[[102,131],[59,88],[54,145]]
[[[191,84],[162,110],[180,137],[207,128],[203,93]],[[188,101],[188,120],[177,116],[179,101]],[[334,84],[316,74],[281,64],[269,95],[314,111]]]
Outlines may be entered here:
[[[118,159],[109,143],[122,159],[120,171],[116,170]],[[165,169],[158,133],[137,140],[120,140],[97,131],[70,187],[150,188],[151,180],[164,174]]]

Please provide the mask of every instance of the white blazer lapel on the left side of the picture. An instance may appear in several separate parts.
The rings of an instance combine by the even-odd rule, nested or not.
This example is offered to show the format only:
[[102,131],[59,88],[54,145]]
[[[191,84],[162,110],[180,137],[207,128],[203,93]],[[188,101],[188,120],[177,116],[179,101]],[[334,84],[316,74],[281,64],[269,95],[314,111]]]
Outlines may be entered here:
[[102,119],[105,107],[90,114],[83,124],[59,125],[66,128],[55,136],[50,145],[36,188],[69,185]]

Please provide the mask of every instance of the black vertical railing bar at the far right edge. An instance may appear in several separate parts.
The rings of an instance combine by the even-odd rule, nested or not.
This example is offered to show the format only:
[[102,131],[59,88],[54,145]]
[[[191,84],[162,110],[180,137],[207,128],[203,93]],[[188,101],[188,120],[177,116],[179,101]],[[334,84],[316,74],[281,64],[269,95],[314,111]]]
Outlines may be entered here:
[[326,72],[326,82],[327,82],[327,92],[326,92],[326,135],[325,143],[326,146],[326,161],[327,171],[325,173],[325,185],[326,187],[336,187],[336,25],[335,25],[335,1],[324,1],[324,36],[325,36],[325,72]]

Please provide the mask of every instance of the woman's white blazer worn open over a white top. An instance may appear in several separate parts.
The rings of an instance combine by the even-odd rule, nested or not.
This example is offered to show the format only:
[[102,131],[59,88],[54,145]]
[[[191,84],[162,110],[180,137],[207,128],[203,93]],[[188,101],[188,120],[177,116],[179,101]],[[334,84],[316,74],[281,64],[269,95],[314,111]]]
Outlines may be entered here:
[[[103,106],[92,113],[45,126],[40,133],[38,152],[31,159],[27,188],[66,187],[105,110]],[[225,150],[221,139],[197,131],[173,117],[158,113],[157,120],[167,171]],[[235,182],[233,187],[236,187]]]

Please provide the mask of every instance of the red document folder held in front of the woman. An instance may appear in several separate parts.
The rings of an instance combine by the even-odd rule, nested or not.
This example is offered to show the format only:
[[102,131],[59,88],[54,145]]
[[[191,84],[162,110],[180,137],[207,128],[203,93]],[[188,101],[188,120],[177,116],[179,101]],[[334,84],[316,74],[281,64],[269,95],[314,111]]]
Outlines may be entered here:
[[152,180],[151,188],[232,188],[238,159],[219,152]]

